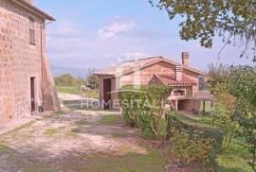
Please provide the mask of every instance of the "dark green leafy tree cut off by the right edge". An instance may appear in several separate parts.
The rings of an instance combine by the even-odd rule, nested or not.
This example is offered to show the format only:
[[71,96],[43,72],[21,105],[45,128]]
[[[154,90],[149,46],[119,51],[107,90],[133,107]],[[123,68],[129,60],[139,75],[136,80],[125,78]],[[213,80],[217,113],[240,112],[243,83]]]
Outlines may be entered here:
[[230,69],[230,93],[237,97],[236,119],[252,154],[249,163],[256,171],[256,68],[237,66]]

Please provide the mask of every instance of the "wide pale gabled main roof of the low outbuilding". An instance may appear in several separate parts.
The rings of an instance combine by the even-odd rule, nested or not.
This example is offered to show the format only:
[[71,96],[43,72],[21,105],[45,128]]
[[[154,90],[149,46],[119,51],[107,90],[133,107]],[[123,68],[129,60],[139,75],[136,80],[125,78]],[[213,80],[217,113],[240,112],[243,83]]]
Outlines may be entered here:
[[[123,63],[120,63],[117,66],[109,67],[107,69],[98,71],[95,73],[95,75],[98,75],[98,76],[101,76],[101,75],[108,75],[108,76],[126,75],[126,74],[134,72],[136,69],[146,68],[146,67],[153,65],[157,62],[160,62],[160,61],[171,63],[173,65],[182,65],[178,62],[175,62],[174,60],[168,60],[163,57],[153,57],[153,58],[146,58],[146,59],[141,59],[141,60],[128,60]],[[183,67],[183,69],[187,69],[196,74],[199,74],[202,76],[206,75],[204,72],[194,69],[192,67],[186,67],[183,65],[182,65],[182,67]]]

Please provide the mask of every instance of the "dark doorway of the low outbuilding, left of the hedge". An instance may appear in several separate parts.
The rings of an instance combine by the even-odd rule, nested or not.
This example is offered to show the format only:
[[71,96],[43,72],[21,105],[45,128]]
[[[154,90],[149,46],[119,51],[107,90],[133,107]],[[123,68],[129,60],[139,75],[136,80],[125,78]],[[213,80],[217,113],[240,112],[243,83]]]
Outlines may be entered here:
[[111,108],[111,78],[103,80],[103,108],[104,110]]

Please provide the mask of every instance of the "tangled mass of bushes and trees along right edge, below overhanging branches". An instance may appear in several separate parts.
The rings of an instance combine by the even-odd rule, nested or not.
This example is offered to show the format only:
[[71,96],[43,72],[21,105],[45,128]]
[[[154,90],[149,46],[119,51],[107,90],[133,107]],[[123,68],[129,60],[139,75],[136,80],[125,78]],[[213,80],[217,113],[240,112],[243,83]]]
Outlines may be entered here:
[[[209,82],[210,90],[216,97],[214,124],[225,133],[226,148],[229,148],[234,136],[245,138],[244,146],[251,153],[248,164],[256,171],[256,68],[221,68],[225,72],[216,72]],[[216,69],[219,67],[216,66]]]

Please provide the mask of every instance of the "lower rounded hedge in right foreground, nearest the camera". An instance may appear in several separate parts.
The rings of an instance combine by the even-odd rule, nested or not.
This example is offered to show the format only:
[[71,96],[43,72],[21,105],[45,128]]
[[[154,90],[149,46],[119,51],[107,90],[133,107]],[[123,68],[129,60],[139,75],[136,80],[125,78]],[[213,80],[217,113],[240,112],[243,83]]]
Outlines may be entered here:
[[223,134],[217,129],[198,127],[178,119],[174,112],[167,115],[168,139],[174,155],[184,163],[213,163],[221,150]]

